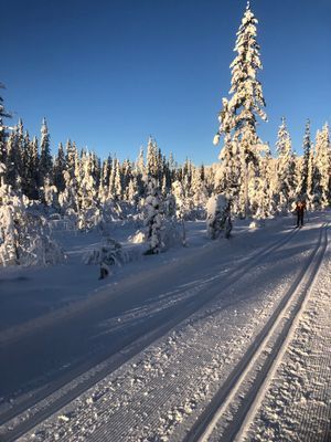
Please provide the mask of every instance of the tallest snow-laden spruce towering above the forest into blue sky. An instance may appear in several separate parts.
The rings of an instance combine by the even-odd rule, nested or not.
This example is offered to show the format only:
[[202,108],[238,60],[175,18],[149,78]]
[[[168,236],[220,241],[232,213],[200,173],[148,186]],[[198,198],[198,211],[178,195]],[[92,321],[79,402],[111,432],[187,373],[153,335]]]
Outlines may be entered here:
[[221,154],[221,159],[224,161],[223,173],[226,173],[226,178],[221,182],[223,181],[223,187],[228,187],[229,197],[238,201],[243,215],[247,215],[249,210],[248,181],[258,172],[263,150],[256,133],[256,117],[267,119],[263,88],[257,80],[257,73],[263,66],[256,41],[256,24],[257,20],[248,1],[237,32],[237,56],[229,66],[232,97],[223,98],[223,108],[218,116],[220,129],[214,137],[214,144],[217,144],[224,135],[224,152]]

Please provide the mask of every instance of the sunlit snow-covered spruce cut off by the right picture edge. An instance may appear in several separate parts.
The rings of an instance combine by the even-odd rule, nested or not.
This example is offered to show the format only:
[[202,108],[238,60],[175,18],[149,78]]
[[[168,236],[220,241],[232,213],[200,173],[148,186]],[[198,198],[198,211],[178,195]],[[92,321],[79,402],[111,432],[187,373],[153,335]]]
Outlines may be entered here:
[[317,133],[314,150],[313,194],[317,207],[325,208],[331,203],[331,145],[327,123]]

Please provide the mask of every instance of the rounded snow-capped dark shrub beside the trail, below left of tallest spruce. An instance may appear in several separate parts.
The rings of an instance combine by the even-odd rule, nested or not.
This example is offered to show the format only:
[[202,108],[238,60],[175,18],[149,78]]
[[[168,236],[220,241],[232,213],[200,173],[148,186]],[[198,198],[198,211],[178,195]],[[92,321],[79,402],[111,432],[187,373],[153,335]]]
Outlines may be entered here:
[[225,238],[229,236],[232,230],[231,204],[224,194],[212,196],[207,201],[207,235],[212,240],[224,232]]

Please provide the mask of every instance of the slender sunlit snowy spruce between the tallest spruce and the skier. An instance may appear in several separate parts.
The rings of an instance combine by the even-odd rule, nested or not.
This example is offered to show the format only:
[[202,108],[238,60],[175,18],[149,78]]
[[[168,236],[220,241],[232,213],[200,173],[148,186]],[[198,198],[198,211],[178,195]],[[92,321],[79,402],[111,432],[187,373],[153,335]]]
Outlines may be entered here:
[[277,210],[287,212],[290,210],[291,198],[293,193],[293,164],[291,138],[286,125],[285,117],[281,118],[281,125],[278,129],[276,141],[277,160]]

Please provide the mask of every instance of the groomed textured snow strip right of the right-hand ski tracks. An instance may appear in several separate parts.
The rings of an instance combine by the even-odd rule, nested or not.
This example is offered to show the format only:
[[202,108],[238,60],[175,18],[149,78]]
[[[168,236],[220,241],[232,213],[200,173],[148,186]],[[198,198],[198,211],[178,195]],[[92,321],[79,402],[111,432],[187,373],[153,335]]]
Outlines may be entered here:
[[[243,441],[329,441],[331,245],[260,407]],[[245,436],[244,436],[245,435]]]

